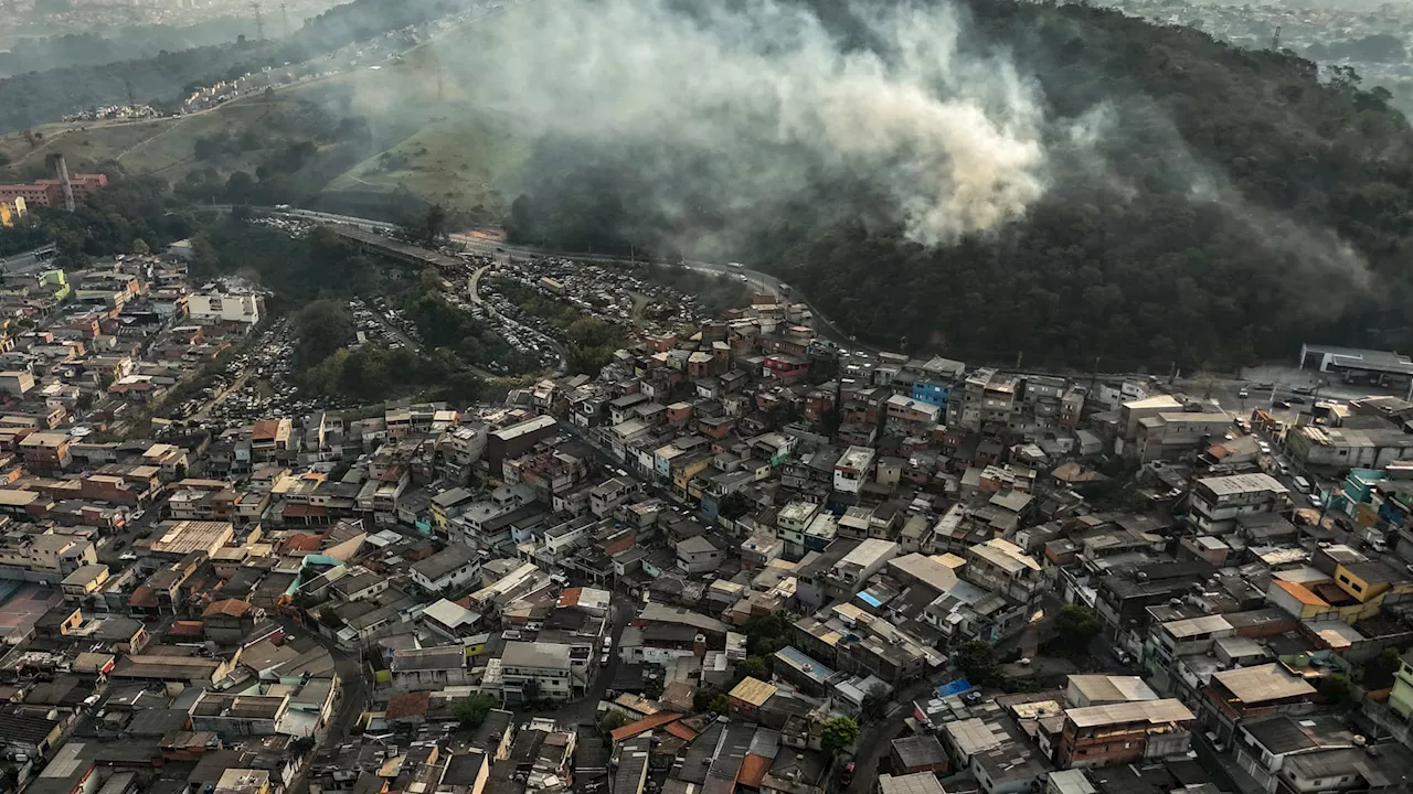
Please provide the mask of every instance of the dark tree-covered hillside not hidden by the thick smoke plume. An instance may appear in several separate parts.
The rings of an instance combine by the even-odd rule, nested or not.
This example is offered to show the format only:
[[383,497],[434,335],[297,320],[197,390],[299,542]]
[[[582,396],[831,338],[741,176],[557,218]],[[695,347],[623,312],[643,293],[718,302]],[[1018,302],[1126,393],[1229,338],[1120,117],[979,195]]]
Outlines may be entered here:
[[[870,203],[866,185],[829,189],[771,213],[738,257],[861,338],[975,362],[1167,370],[1290,356],[1303,340],[1413,348],[1413,131],[1379,89],[1104,8],[961,4],[968,45],[1009,52],[1039,82],[1051,138],[1085,140],[1050,141],[1024,219],[924,247],[886,212],[848,209]],[[533,162],[577,164],[552,194],[544,172],[527,182],[514,233],[643,242],[642,222],[622,219],[650,208],[613,194],[623,178],[602,157]]]

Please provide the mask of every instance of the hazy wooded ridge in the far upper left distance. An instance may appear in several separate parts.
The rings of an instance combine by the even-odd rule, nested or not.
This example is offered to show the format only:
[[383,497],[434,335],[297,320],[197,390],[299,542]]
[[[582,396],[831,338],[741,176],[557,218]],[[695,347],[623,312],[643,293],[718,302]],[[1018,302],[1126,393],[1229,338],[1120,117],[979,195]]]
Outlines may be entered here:
[[0,133],[58,122],[89,106],[174,102],[192,85],[300,64],[355,41],[466,8],[472,0],[352,0],[307,20],[278,41],[240,41],[116,64],[69,66],[0,79]]

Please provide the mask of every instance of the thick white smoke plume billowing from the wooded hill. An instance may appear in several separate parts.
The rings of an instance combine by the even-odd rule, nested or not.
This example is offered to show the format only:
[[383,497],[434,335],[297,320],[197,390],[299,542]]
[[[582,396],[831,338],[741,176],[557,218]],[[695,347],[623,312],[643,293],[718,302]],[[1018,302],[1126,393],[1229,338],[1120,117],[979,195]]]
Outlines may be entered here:
[[[961,55],[948,4],[862,17],[882,57],[773,0],[709,6],[527,0],[468,41],[482,71],[463,88],[544,131],[706,154],[728,212],[764,209],[820,170],[861,175],[930,244],[1020,218],[1044,192],[1039,90],[1000,57]],[[691,220],[671,185],[653,198]]]

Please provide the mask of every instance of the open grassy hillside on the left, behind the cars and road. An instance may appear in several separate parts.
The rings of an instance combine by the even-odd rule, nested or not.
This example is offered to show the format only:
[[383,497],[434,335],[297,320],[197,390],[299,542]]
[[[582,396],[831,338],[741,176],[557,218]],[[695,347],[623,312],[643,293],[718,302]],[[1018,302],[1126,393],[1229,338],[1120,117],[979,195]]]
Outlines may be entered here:
[[[226,131],[264,131],[274,116],[307,100],[335,116],[367,119],[373,140],[387,147],[342,175],[322,175],[326,195],[359,194],[382,201],[410,191],[427,202],[466,211],[482,222],[496,222],[516,195],[519,171],[533,141],[516,133],[514,123],[473,107],[448,78],[438,85],[438,45],[414,49],[403,61],[377,69],[360,69],[278,92],[273,103],[263,97],[232,102],[205,113],[138,123],[48,124],[0,136],[3,179],[48,175],[44,158],[62,153],[71,172],[90,171],[116,160],[130,174],[157,174],[170,182],[189,171],[215,167],[222,174],[253,172],[263,151],[198,161],[198,138]],[[308,182],[307,182],[308,184]]]

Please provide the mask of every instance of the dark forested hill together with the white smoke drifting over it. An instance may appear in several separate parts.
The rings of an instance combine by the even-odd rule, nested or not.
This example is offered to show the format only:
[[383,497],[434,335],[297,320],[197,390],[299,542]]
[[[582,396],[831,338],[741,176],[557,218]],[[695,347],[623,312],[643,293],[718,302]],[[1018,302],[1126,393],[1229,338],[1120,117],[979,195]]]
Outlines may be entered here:
[[480,99],[547,131],[521,239],[750,261],[982,360],[1413,342],[1413,133],[1354,79],[1085,6],[620,6],[478,41]]

